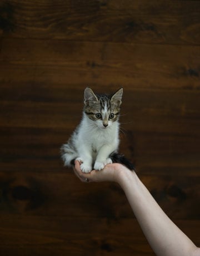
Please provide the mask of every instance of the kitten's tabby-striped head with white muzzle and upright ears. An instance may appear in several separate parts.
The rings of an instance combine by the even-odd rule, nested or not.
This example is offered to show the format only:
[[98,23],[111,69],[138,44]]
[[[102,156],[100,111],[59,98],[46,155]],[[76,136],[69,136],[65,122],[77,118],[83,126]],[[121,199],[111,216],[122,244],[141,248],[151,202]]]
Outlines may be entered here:
[[113,95],[94,94],[91,88],[84,90],[84,112],[102,129],[118,120],[123,88]]

